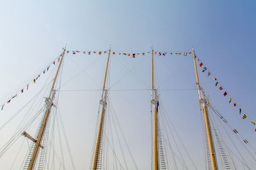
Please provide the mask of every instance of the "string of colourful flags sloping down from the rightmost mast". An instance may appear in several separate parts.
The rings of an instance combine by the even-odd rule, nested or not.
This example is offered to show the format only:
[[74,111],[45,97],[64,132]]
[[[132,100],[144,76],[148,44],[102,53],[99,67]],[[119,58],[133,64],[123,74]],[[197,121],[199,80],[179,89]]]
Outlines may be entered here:
[[[210,76],[211,75],[211,72],[209,71],[209,69],[207,67],[204,66],[203,62],[200,61],[200,59],[198,58],[198,65],[200,66],[200,68],[202,69],[202,73],[207,73],[207,76]],[[228,103],[233,106],[233,107],[237,107],[239,108],[239,115],[241,115],[243,119],[246,119],[248,118],[248,114],[247,113],[244,113],[243,110],[241,109],[241,107],[238,106],[237,102],[234,101],[234,99],[228,94],[228,92],[224,89],[223,86],[220,85],[220,82],[217,80],[216,77],[212,76],[212,79],[214,80],[214,83],[215,83],[215,87],[218,88],[222,94],[223,94],[223,97],[227,97],[228,99]],[[250,122],[255,125],[255,122],[253,122],[253,120],[250,120]],[[256,128],[255,128],[255,132],[256,132]]]

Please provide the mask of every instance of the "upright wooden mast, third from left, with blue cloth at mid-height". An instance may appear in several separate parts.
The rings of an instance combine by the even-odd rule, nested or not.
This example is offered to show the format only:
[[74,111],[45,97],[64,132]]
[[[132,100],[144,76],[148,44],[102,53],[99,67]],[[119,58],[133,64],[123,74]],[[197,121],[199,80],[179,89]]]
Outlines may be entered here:
[[154,89],[154,50],[152,47],[152,71],[151,71],[151,77],[152,77],[152,99],[151,103],[154,104],[154,143],[153,143],[153,150],[154,150],[154,170],[158,170],[158,146],[157,146],[157,101],[158,96],[156,89]]

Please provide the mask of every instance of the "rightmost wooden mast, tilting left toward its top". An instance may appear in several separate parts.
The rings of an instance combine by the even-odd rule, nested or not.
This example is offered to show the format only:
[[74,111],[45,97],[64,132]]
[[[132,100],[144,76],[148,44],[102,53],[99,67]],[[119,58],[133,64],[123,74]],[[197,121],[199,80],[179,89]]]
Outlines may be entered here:
[[197,68],[196,68],[196,55],[195,55],[194,48],[193,48],[193,56],[194,56],[194,64],[195,64],[195,72],[196,72],[196,85],[197,85],[197,89],[198,89],[199,101],[200,101],[200,104],[201,103],[203,104],[203,108],[204,108],[205,125],[206,125],[206,130],[207,130],[209,149],[210,149],[210,152],[211,152],[212,170],[216,170],[217,166],[216,166],[214,148],[213,148],[213,144],[212,144],[212,134],[211,134],[209,119],[208,119],[208,114],[207,114],[207,108],[206,108],[207,106],[205,104],[205,98],[202,97],[201,93],[200,93],[200,85],[199,85],[198,73],[197,73]]

